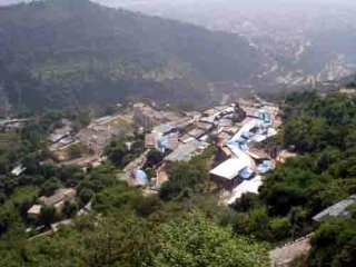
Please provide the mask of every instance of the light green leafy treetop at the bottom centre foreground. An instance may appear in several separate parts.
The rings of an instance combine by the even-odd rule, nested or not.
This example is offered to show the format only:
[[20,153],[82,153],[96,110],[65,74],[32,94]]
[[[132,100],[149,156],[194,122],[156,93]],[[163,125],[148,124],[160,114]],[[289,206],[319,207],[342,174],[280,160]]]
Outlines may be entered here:
[[233,237],[199,212],[164,225],[156,266],[269,266],[268,247],[244,237]]

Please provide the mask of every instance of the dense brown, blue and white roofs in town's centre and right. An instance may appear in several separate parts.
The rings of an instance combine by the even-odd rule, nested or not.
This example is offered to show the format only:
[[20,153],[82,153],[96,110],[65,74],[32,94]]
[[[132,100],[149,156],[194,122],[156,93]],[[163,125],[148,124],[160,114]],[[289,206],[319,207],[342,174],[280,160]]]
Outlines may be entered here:
[[[151,177],[154,187],[158,189],[168,179],[165,167],[170,162],[189,161],[210,145],[216,145],[218,152],[210,176],[221,191],[229,195],[225,202],[231,204],[247,191],[258,192],[263,175],[275,167],[275,160],[261,144],[277,135],[276,129],[281,123],[278,111],[278,107],[257,97],[202,112],[172,113],[157,111],[144,103],[136,105],[134,122],[146,131],[150,130],[145,135],[145,148],[165,155],[156,177]],[[145,160],[141,155],[127,166],[126,174],[142,180]]]

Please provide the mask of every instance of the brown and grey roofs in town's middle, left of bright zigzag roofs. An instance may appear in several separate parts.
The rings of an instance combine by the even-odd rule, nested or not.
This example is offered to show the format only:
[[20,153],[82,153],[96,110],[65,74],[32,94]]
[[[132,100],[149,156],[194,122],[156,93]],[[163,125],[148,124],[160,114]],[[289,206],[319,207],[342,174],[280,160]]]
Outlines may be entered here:
[[[146,151],[123,169],[126,177],[129,177],[129,184],[147,186],[150,180],[150,188],[157,190],[168,179],[165,170],[167,162],[189,161],[194,156],[201,154],[209,146],[204,136],[212,125],[202,126],[200,117],[200,112],[158,111],[150,106],[136,103],[132,121],[137,128],[146,132]],[[154,149],[161,151],[165,157],[156,166],[154,177],[148,177],[145,166],[148,152]]]

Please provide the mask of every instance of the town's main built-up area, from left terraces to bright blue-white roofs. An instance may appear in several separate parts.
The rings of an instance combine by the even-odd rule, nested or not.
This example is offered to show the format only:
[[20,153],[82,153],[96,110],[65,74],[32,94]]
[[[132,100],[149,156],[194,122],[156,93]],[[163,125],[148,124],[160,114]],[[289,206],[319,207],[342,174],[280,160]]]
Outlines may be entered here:
[[[107,160],[105,149],[110,141],[130,137],[136,129],[142,134],[145,149],[125,166],[118,178],[150,195],[157,194],[169,179],[167,168],[171,162],[189,161],[214,147],[209,166],[210,191],[218,192],[221,205],[230,205],[243,194],[258,194],[264,175],[284,159],[296,156],[293,151],[268,145],[281,125],[279,108],[257,96],[204,111],[165,111],[142,102],[132,103],[129,110],[126,115],[95,119],[78,132],[70,120],[63,119],[61,127],[49,136],[49,149],[56,155],[57,165],[83,169],[89,165],[100,166]],[[3,125],[17,127],[21,122],[24,121],[9,120]],[[77,146],[79,154],[70,157],[69,151]],[[149,175],[145,168],[151,150],[160,151],[164,157]],[[26,168],[19,164],[12,175],[20,176],[23,171]],[[39,214],[39,207],[34,205],[29,216]]]

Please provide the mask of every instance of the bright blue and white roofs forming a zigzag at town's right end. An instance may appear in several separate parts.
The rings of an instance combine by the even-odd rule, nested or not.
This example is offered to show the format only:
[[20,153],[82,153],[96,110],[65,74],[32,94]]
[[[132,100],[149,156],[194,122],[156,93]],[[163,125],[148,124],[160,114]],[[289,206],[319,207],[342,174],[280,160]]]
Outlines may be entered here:
[[221,204],[230,205],[243,194],[258,194],[263,176],[273,171],[275,157],[265,141],[277,135],[278,108],[261,99],[240,101],[246,118],[233,136],[218,140],[219,158],[210,176],[220,188]]

